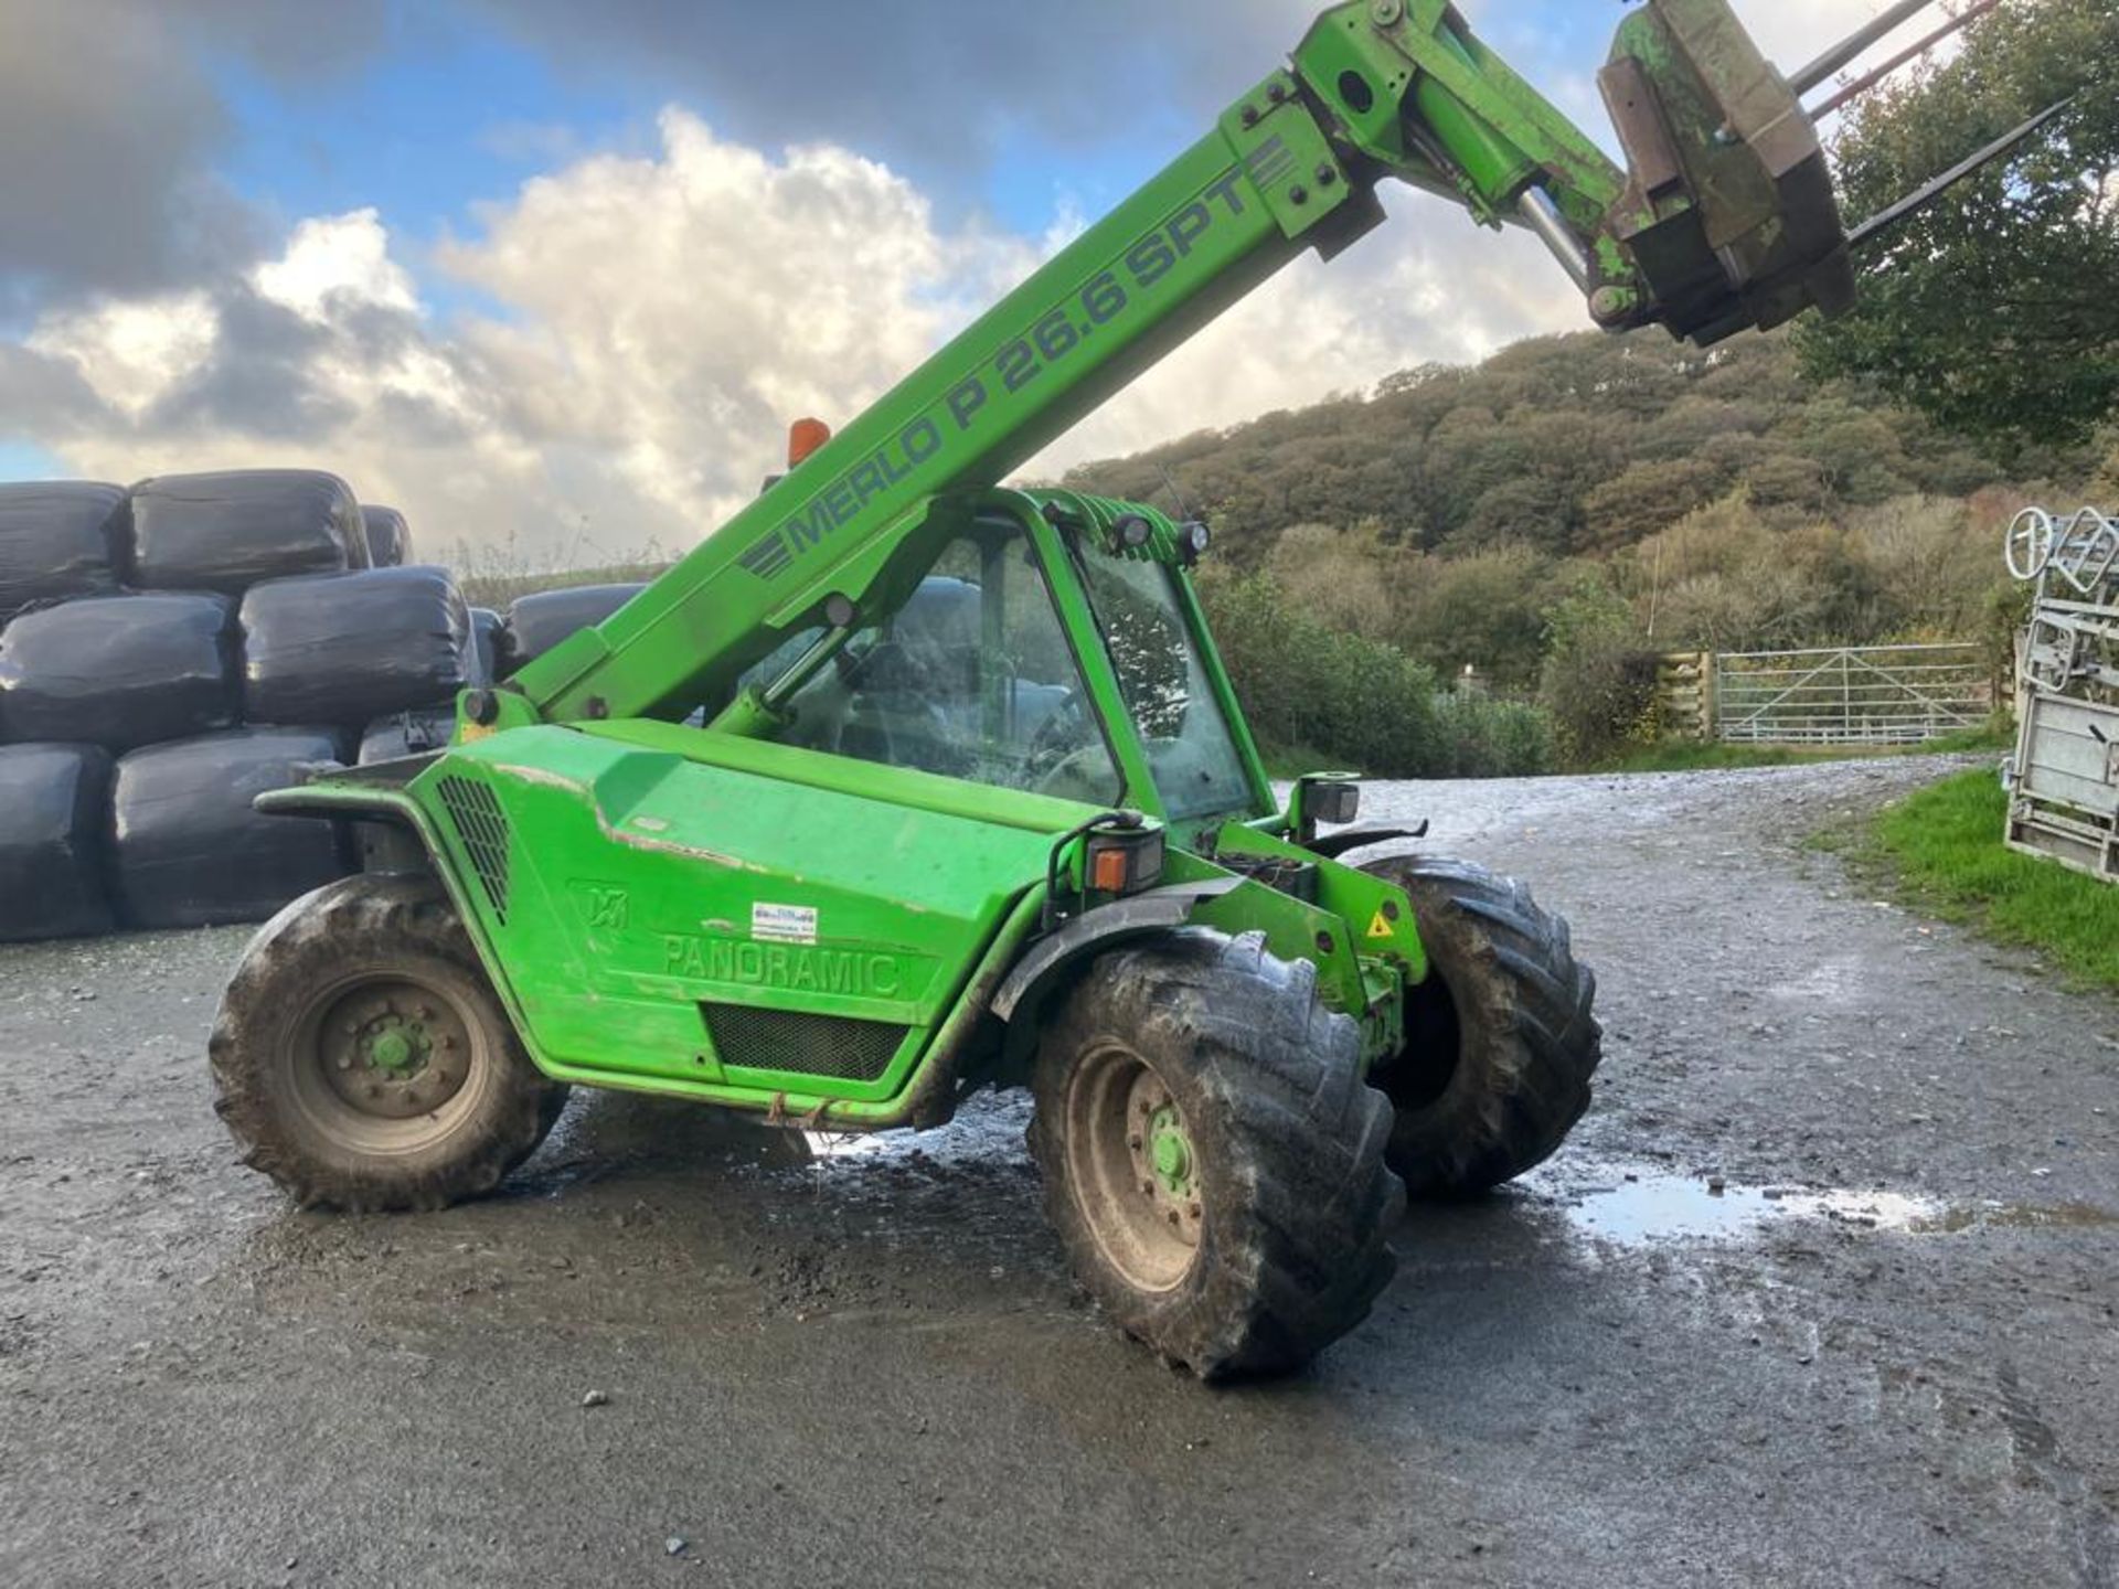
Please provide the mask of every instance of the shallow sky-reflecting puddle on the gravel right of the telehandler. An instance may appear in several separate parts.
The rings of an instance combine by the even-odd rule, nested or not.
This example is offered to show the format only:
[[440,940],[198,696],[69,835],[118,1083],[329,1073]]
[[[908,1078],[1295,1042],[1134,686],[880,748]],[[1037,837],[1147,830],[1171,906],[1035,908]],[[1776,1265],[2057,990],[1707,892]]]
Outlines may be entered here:
[[1958,1235],[1979,1229],[2100,1229],[2119,1214],[2091,1203],[1941,1203],[1890,1191],[1721,1186],[1695,1176],[1640,1170],[1602,1186],[1555,1193],[1566,1220],[1615,1246],[1735,1242],[1780,1222],[1833,1222],[1899,1235]]

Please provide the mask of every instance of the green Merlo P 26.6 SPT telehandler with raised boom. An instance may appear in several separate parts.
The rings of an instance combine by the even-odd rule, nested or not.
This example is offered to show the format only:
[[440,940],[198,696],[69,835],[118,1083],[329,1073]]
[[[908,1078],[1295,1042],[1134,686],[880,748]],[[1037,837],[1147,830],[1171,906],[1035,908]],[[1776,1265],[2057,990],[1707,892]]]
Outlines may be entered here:
[[1049,1216],[1127,1333],[1218,1379],[1358,1324],[1407,1191],[1507,1182],[1581,1119],[1593,979],[1519,883],[1348,864],[1422,837],[1350,826],[1354,778],[1276,797],[1193,593],[1206,525],[1000,481],[1379,225],[1384,178],[1532,229],[1608,328],[1852,301],[1808,85],[1725,0],[1632,11],[1602,87],[1623,172],[1443,0],[1331,6],[617,617],[468,691],[449,750],[263,797],[356,824],[367,869],[227,989],[248,1163],[430,1210],[572,1085],[820,1131],[1028,1087]]

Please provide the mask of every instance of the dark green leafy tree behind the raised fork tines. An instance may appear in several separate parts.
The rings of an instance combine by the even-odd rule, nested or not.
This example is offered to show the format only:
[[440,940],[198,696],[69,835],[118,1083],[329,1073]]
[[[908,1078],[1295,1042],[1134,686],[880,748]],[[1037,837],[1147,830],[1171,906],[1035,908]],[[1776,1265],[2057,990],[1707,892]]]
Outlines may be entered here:
[[2002,449],[2083,441],[2119,413],[2119,8],[2015,0],[1964,49],[1856,102],[1837,144],[1869,216],[2072,97],[2068,110],[1882,239],[1863,303],[1801,333],[1814,377],[1869,377]]

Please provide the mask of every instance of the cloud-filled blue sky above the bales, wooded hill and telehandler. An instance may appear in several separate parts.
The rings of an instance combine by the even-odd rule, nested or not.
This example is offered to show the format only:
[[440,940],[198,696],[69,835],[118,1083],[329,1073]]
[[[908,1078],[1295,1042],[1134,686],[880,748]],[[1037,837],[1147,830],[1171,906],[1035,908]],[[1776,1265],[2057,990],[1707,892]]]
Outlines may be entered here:
[[[1782,55],[1882,4],[1735,2]],[[1604,125],[1621,6],[1462,4]],[[0,214],[36,225],[0,229],[0,479],[318,466],[464,540],[684,542],[795,413],[858,413],[1316,15],[13,0]],[[1534,242],[1386,208],[1034,470],[1585,324]]]

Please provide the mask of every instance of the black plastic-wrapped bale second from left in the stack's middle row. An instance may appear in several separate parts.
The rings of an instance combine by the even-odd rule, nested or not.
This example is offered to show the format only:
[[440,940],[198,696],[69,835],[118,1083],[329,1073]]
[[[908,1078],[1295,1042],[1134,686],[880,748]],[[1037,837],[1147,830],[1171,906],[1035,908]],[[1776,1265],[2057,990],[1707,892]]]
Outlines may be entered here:
[[441,568],[267,581],[244,597],[244,716],[358,729],[464,689],[470,612]]

